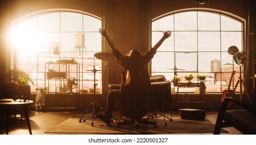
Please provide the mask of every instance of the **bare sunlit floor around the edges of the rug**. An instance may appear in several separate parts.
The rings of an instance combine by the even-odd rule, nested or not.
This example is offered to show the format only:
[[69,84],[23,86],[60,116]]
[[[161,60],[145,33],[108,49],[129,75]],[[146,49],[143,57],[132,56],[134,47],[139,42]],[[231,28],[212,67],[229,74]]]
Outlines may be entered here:
[[[169,117],[170,113],[166,113]],[[56,126],[57,124],[63,122],[66,119],[69,119],[74,114],[83,114],[82,112],[30,112],[30,123],[32,127],[32,134],[33,135],[46,135],[46,131],[51,129],[52,127]],[[211,121],[215,124],[217,119],[218,112],[206,112],[206,119]],[[179,112],[172,112],[172,117],[180,117]],[[0,118],[1,122],[5,119],[4,117]],[[18,120],[18,121],[17,121]],[[14,123],[15,122],[15,123]],[[1,123],[3,124],[3,123]],[[5,126],[0,126],[0,134],[5,135]],[[225,128],[229,133],[223,133],[222,135],[241,135],[238,130],[233,127]],[[28,135],[29,130],[26,126],[25,119],[20,120],[20,115],[17,115],[16,120],[14,118],[10,119],[9,125],[9,135]],[[52,135],[52,134],[50,134]],[[209,134],[208,134],[209,135]]]

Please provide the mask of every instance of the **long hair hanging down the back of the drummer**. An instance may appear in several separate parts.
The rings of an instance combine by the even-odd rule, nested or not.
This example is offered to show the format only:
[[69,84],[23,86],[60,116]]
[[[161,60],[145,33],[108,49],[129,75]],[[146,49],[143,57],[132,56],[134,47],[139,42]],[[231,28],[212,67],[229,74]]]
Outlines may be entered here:
[[141,78],[143,78],[144,64],[142,62],[142,55],[139,50],[132,49],[130,53],[127,54],[130,59],[131,67],[129,67],[126,74],[126,84],[132,86],[141,86]]

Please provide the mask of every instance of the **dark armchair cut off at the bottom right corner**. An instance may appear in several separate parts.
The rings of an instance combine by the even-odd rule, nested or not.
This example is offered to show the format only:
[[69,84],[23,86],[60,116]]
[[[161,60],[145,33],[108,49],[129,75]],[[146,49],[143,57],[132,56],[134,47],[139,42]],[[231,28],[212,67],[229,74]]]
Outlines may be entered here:
[[[227,106],[230,103],[241,109],[227,110]],[[243,134],[256,134],[255,123],[255,106],[243,103],[233,98],[225,98],[221,104],[213,134],[220,134],[221,128],[224,127],[235,127]]]

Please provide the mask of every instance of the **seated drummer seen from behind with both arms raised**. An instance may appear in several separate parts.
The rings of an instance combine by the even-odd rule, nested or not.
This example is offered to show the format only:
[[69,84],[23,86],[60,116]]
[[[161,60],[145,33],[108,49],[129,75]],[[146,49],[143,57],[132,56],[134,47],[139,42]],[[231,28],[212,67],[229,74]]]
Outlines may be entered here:
[[109,92],[106,101],[106,112],[105,114],[98,115],[100,120],[110,125],[115,98],[120,101],[123,100],[123,102],[128,102],[130,99],[140,99],[139,97],[146,96],[151,92],[150,76],[146,65],[154,57],[156,50],[163,44],[164,40],[171,36],[171,32],[164,32],[163,37],[161,37],[157,44],[145,54],[141,54],[137,49],[132,49],[127,55],[122,55],[118,49],[115,48],[105,30],[100,28],[99,32],[106,39],[115,60],[122,68],[120,89],[111,90]]

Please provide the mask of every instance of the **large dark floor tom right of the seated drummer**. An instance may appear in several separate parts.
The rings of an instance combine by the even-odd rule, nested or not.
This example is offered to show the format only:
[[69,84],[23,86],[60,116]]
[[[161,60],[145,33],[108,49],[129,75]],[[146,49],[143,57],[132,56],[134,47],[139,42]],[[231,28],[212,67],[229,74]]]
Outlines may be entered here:
[[151,109],[165,109],[172,106],[171,82],[151,82],[152,94],[149,99]]

